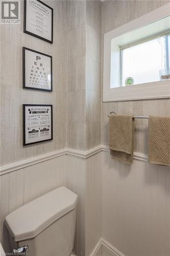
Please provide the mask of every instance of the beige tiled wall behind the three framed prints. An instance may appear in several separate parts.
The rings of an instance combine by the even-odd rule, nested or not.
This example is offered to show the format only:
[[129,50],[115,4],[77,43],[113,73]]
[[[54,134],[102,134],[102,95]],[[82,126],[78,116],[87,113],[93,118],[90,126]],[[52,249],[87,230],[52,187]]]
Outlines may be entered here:
[[[21,24],[1,26],[1,166],[43,155],[66,145],[67,2],[46,1],[54,8],[54,43],[23,33]],[[53,56],[53,92],[22,89],[22,47]],[[54,139],[22,146],[22,104],[53,104]]]

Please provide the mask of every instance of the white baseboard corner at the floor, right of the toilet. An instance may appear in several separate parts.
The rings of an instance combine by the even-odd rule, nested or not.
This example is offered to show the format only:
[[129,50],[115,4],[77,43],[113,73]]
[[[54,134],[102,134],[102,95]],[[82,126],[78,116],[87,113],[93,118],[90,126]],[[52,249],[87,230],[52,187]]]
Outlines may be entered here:
[[[93,251],[90,253],[89,256],[95,256],[101,247],[105,247],[113,256],[125,256],[125,254],[117,250],[113,245],[107,242],[104,238],[99,239],[98,243],[96,243]],[[102,255],[102,256],[105,256],[105,255]]]

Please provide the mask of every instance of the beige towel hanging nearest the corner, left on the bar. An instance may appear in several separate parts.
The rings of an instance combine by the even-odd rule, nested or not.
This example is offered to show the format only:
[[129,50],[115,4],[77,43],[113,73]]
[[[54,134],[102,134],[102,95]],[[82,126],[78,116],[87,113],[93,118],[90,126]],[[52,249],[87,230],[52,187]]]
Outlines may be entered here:
[[112,158],[125,163],[133,162],[134,117],[130,115],[110,115],[110,154]]

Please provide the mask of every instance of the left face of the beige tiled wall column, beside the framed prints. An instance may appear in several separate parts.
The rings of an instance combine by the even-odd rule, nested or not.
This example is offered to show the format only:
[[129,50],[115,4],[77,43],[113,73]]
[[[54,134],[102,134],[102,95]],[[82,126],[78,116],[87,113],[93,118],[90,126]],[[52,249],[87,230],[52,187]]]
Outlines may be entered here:
[[68,147],[85,150],[86,1],[68,2]]

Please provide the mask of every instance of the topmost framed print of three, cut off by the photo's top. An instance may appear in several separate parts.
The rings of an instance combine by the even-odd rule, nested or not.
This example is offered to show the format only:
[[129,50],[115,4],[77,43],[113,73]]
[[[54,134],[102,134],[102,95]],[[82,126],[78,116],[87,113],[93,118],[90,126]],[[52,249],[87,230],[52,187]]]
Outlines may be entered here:
[[23,32],[53,44],[53,8],[39,0],[24,0]]

